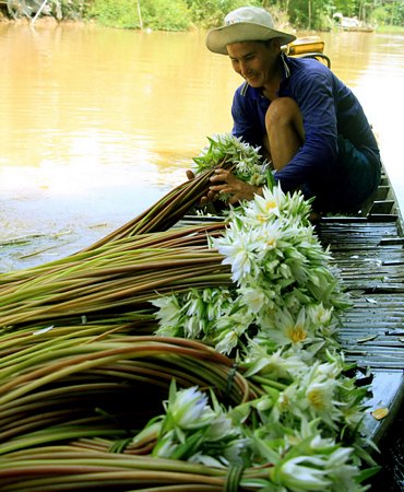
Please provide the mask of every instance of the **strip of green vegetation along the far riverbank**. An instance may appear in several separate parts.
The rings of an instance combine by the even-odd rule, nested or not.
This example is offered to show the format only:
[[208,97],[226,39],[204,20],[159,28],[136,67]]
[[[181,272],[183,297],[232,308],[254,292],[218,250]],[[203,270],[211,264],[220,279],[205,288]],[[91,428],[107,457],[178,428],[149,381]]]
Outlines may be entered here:
[[[15,5],[24,5],[21,15],[27,10],[35,15],[41,3],[8,0],[0,8],[3,16],[10,16],[10,5],[14,16]],[[301,30],[332,30],[337,12],[381,28],[404,26],[403,0],[49,0],[46,13],[58,20],[93,20],[121,28],[186,31],[221,25],[226,12],[246,4],[264,7],[280,26]]]

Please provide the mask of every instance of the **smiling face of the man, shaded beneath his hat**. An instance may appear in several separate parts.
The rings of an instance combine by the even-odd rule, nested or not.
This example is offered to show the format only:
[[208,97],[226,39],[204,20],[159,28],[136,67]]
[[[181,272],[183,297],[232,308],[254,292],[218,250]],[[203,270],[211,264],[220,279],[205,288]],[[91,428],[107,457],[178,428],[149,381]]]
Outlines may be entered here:
[[227,45],[234,70],[252,87],[271,82],[277,68],[281,47],[276,39],[271,43],[242,42]]

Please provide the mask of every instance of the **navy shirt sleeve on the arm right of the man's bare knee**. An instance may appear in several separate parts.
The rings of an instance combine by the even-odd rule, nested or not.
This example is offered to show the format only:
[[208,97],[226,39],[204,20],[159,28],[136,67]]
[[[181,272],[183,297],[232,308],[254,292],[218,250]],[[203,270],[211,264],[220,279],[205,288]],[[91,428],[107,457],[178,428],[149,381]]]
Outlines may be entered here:
[[[316,66],[314,66],[316,67]],[[292,161],[275,174],[284,191],[304,183],[326,177],[337,157],[336,82],[333,73],[319,63],[305,71],[290,87],[300,108],[305,143]]]

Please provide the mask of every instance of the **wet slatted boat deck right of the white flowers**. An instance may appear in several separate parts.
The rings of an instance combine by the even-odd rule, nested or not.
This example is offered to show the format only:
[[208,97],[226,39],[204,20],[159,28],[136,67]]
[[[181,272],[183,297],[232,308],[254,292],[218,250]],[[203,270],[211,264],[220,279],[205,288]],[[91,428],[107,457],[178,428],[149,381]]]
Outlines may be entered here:
[[[317,227],[353,302],[340,340],[346,360],[372,374],[365,426],[377,443],[404,398],[404,238],[397,220],[378,219],[324,219]],[[371,417],[378,408],[389,409],[381,421]]]

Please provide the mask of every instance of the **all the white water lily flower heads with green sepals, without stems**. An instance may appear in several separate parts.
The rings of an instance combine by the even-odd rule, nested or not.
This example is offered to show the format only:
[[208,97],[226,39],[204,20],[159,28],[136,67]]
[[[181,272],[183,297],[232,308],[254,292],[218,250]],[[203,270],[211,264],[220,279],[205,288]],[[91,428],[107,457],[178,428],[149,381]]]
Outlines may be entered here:
[[[246,147],[231,136],[212,140],[199,168],[221,155],[215,143],[228,152],[231,141],[243,178],[252,179],[259,154],[252,150],[256,157],[247,160],[254,163],[249,175]],[[284,194],[270,179],[262,197],[230,209],[223,236],[211,241],[231,268],[233,286],[153,301],[157,335],[214,344],[261,388],[259,398],[228,412],[212,395],[211,408],[197,388],[173,390],[156,455],[187,449],[187,459],[227,467],[270,461],[268,491],[366,490],[359,470],[361,459],[371,462],[360,435],[367,389],[356,386],[337,341],[350,303],[310,210],[301,194]]]

